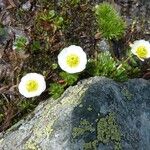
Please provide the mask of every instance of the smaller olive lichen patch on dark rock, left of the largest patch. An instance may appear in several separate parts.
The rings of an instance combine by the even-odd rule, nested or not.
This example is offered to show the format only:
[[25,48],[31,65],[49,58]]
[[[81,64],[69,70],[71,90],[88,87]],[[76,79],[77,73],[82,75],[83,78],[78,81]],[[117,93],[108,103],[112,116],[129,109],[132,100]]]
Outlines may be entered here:
[[80,121],[79,127],[74,127],[72,131],[73,138],[82,136],[85,132],[94,132],[95,129],[92,127],[90,122],[86,119]]

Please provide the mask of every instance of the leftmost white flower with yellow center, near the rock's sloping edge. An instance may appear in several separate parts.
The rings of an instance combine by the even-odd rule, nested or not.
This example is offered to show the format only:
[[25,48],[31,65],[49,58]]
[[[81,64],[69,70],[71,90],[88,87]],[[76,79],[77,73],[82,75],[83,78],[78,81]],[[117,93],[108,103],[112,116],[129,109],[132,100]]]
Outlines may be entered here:
[[39,96],[46,89],[44,76],[37,73],[28,73],[22,77],[18,89],[27,98]]

